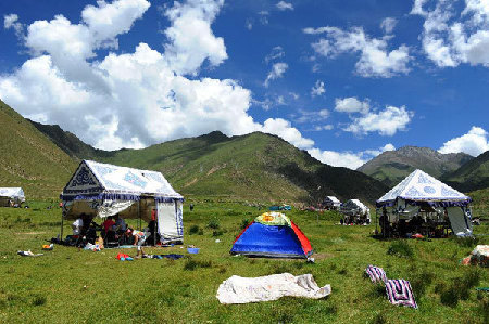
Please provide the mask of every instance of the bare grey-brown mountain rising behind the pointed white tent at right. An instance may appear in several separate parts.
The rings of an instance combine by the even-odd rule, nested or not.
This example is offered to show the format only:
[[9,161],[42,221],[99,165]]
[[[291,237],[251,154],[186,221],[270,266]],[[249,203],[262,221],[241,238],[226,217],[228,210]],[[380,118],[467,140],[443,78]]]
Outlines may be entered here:
[[361,166],[358,171],[392,187],[415,169],[441,178],[442,174],[453,172],[471,159],[473,157],[465,153],[441,154],[429,147],[403,146],[396,151],[384,152]]

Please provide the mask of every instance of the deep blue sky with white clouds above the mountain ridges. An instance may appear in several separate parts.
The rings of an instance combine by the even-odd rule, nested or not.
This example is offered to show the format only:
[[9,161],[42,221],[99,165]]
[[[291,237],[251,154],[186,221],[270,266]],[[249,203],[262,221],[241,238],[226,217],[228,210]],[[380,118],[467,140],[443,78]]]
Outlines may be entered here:
[[0,99],[97,147],[264,131],[358,168],[489,150],[489,3],[2,1]]

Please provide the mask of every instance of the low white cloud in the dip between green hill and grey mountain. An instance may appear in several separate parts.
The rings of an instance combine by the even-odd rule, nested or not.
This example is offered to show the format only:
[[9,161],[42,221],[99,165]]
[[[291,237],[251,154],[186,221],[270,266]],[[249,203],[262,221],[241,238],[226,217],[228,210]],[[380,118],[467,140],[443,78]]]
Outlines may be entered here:
[[317,148],[311,148],[308,152],[312,157],[321,160],[324,164],[336,167],[346,167],[355,170],[380,153],[392,150],[396,150],[392,144],[386,144],[385,146],[377,150],[367,150],[359,153],[321,151]]

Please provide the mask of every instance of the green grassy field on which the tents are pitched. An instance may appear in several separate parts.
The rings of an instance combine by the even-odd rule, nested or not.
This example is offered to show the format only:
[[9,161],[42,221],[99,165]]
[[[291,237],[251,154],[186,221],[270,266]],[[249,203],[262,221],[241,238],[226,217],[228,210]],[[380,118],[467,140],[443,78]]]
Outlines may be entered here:
[[[292,210],[288,215],[309,236],[316,263],[248,259],[228,251],[244,220],[263,210],[241,203],[197,203],[185,208],[185,244],[200,247],[189,256],[178,246],[150,248],[152,254],[184,254],[185,259],[121,262],[120,249],[78,251],[55,246],[38,258],[55,236],[60,209],[46,202],[30,209],[0,209],[0,322],[2,323],[488,323],[488,269],[459,265],[476,242],[456,239],[378,241],[369,226],[335,225],[338,216]],[[209,228],[212,224],[214,229]],[[215,229],[217,226],[217,229]],[[189,231],[196,232],[189,234]],[[65,233],[70,228],[65,226]],[[487,224],[476,229],[489,234]],[[215,243],[215,239],[221,243]],[[480,236],[478,244],[489,244]],[[397,252],[389,255],[389,250]],[[135,254],[134,249],[125,250]],[[410,251],[412,255],[410,255]],[[368,264],[383,267],[389,278],[411,281],[418,309],[390,304],[384,289],[364,278]],[[215,295],[229,276],[312,273],[319,286],[330,284],[322,300],[222,306]]]

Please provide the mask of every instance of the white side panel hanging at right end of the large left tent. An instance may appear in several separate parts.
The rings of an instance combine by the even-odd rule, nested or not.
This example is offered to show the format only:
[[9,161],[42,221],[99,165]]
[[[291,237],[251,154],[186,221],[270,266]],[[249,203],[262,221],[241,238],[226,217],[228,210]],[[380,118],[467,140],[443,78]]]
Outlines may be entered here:
[[158,231],[162,241],[179,241],[184,237],[183,206],[176,200],[156,203]]

